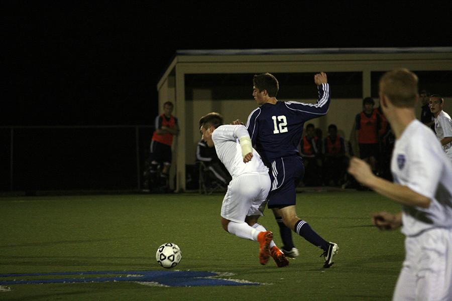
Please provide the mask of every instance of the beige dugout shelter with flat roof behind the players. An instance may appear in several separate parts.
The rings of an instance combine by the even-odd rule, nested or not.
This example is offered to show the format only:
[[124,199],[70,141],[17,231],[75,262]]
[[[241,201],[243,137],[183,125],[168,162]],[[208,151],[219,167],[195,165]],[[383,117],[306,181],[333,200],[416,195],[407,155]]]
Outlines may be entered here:
[[[276,76],[278,100],[313,103],[317,99],[313,75],[326,72],[332,98],[329,112],[310,122],[322,129],[323,137],[327,126],[336,124],[354,145],[355,115],[362,111],[363,98],[373,97],[378,107],[380,76],[399,67],[418,75],[419,89],[442,94],[444,111],[452,113],[452,47],[177,51],[157,84],[159,112],[165,101],[173,102],[181,129],[173,143],[174,188],[186,188],[185,167],[195,163],[202,115],[216,111],[226,123],[246,122],[257,107],[252,96],[254,74]],[[416,109],[419,117],[420,104]]]

